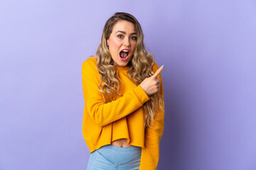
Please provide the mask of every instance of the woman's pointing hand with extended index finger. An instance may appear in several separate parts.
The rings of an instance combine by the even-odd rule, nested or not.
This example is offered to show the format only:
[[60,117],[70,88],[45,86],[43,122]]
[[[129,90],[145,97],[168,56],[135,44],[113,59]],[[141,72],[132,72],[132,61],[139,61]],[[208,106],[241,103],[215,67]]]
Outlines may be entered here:
[[146,92],[146,94],[149,96],[151,94],[155,94],[157,91],[159,91],[159,86],[161,79],[157,79],[156,77],[161,73],[161,71],[164,69],[164,65],[161,66],[153,76],[144,79],[140,86],[142,86],[142,89]]

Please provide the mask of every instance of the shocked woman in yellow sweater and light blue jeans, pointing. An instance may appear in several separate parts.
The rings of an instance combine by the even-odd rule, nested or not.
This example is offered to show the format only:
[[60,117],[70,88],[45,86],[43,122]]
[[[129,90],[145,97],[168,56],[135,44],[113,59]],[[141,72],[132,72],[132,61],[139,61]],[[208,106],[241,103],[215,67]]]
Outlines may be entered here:
[[161,70],[129,13],[108,19],[97,53],[82,64],[87,169],[156,169],[164,131]]

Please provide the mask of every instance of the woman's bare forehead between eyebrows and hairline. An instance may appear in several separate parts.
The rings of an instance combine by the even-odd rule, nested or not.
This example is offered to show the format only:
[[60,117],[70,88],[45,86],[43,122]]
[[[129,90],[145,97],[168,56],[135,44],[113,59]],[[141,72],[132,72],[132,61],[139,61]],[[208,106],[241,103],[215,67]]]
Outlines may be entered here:
[[116,33],[119,30],[124,31],[125,33],[136,33],[134,23],[124,20],[117,21],[117,23],[114,24],[112,33]]

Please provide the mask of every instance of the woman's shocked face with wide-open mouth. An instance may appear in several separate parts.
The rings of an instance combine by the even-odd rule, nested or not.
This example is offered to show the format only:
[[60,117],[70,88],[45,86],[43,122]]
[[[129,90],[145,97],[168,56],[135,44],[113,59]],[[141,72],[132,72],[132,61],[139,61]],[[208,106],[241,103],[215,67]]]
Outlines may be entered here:
[[131,60],[137,45],[137,33],[133,23],[118,21],[107,40],[114,66],[125,67]]

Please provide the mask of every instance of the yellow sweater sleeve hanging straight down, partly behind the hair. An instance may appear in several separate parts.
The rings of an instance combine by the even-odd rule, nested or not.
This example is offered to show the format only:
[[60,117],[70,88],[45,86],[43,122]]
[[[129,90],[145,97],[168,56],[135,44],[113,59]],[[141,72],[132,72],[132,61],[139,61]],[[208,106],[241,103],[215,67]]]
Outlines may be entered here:
[[[157,65],[154,65],[154,72],[158,69]],[[161,79],[161,74],[159,75]],[[161,98],[164,101],[164,89],[161,79],[160,90]],[[164,108],[164,103],[162,104]],[[154,122],[151,123],[151,128],[146,128],[145,131],[145,147],[142,148],[142,157],[139,170],[156,170],[159,162],[159,142],[164,132],[164,112],[159,111],[154,116]]]

